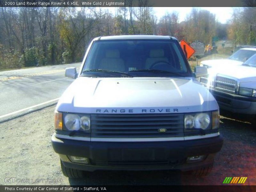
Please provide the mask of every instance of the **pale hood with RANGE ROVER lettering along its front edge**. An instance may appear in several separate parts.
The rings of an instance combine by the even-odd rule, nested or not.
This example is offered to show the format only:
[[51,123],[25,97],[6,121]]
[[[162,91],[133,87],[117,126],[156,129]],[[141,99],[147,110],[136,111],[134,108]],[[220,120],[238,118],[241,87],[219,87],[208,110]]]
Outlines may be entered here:
[[217,110],[218,104],[194,78],[79,77],[63,93],[56,109],[75,113],[185,113]]

